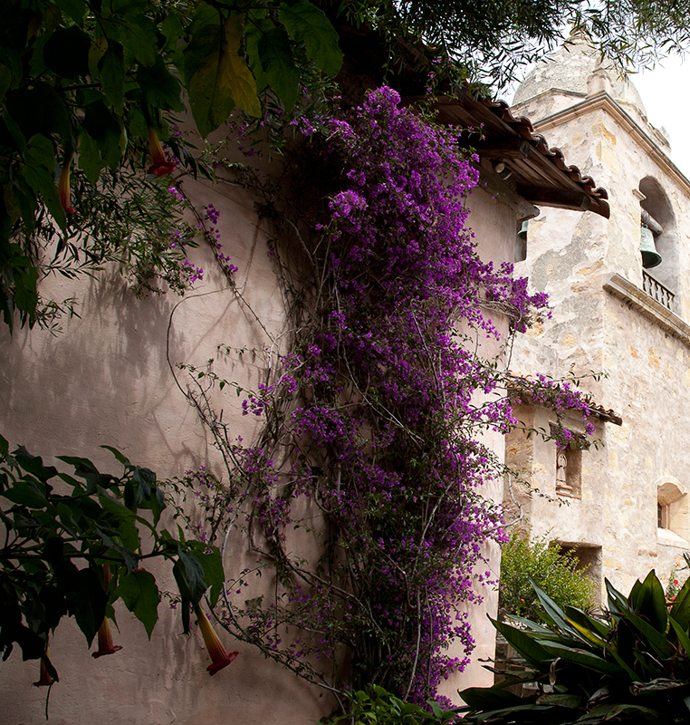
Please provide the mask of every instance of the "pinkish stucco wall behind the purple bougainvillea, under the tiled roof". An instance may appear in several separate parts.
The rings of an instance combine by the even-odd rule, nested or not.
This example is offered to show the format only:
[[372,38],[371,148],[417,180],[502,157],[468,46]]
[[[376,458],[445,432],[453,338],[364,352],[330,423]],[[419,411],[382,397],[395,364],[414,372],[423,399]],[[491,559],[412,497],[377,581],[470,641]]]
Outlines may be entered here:
[[[218,346],[263,351],[269,340],[254,314],[277,334],[282,330],[283,306],[273,262],[266,254],[270,230],[257,228],[253,199],[193,182],[187,182],[186,191],[200,203],[212,201],[220,211],[225,251],[239,267],[236,281],[246,304],[226,289],[205,248],[193,253],[196,263],[207,270],[205,279],[184,298],[170,294],[139,300],[112,274],[79,283],[47,280],[46,295],[62,299],[75,294],[81,299],[81,319],[65,320],[57,336],[34,329],[17,330],[11,338],[5,326],[0,328],[0,432],[11,445],[24,444],[44,457],[83,455],[108,470],[114,469],[113,460],[99,448],[108,444],[156,470],[161,478],[200,465],[218,466],[216,450],[177,387],[168,357],[173,366],[201,366],[213,360],[213,370],[221,377],[254,387],[264,365],[262,354],[255,359],[244,354],[240,359],[233,353],[220,354]],[[485,191],[475,192],[470,206],[482,256],[509,259],[514,210]],[[482,344],[487,355],[499,352],[495,343]],[[185,373],[177,370],[176,375],[185,389]],[[248,439],[252,416],[241,416],[240,400],[233,390],[216,395],[224,420]],[[487,440],[503,459],[503,438],[492,434]],[[483,493],[500,499],[501,488],[495,481]],[[234,552],[225,565],[233,565],[233,557],[240,554]],[[496,547],[487,546],[486,556],[497,571]],[[164,582],[167,574],[160,575]],[[494,632],[485,614],[494,614],[496,607],[496,593],[484,594],[484,606],[471,612],[476,654],[483,658],[494,652]],[[139,622],[120,608],[120,633],[115,639],[123,649],[97,661],[91,659],[73,623],[59,628],[51,643],[61,676],[51,692],[51,722],[302,725],[331,710],[327,694],[264,660],[244,643],[226,642],[240,655],[210,678],[197,633],[187,640],[176,613],[165,603],[159,612],[149,643]],[[226,634],[225,639],[229,639]],[[36,662],[22,662],[18,650],[0,663],[0,721],[8,725],[44,721],[45,691],[31,686],[37,672]],[[488,681],[491,676],[473,664],[446,683],[444,692],[456,699],[458,688]]]

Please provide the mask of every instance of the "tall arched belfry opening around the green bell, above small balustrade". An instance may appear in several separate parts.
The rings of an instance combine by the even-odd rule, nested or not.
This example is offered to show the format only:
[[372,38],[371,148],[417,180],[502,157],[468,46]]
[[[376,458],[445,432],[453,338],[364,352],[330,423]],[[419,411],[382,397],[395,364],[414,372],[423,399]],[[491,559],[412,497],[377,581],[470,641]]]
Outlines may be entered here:
[[641,207],[640,225],[643,234],[645,234],[645,229],[651,232],[656,252],[661,256],[661,262],[656,266],[648,267],[646,273],[656,282],[660,282],[673,295],[676,295],[680,275],[678,273],[678,235],[673,208],[664,189],[656,179],[650,176],[645,177],[639,182],[639,190],[644,196],[639,203]]

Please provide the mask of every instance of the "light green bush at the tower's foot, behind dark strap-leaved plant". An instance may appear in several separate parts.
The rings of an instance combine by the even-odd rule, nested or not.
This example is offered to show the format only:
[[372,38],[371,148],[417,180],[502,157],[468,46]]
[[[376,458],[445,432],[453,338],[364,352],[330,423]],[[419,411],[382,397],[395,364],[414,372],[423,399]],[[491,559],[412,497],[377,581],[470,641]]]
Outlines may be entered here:
[[530,541],[513,530],[502,550],[499,609],[538,620],[543,607],[530,584],[532,576],[560,607],[591,610],[595,585],[579,565],[573,550],[562,552],[558,543],[549,542],[545,536]]

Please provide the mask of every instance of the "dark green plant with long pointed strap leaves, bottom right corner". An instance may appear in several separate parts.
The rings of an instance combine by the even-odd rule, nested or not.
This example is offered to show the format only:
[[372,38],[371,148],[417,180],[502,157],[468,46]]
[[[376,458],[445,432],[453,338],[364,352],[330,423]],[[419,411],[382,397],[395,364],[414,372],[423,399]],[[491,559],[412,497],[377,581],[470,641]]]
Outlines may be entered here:
[[607,581],[601,615],[563,610],[532,586],[543,622],[494,622],[519,658],[494,687],[460,693],[464,722],[690,723],[690,580],[670,609],[654,571],[628,597]]

